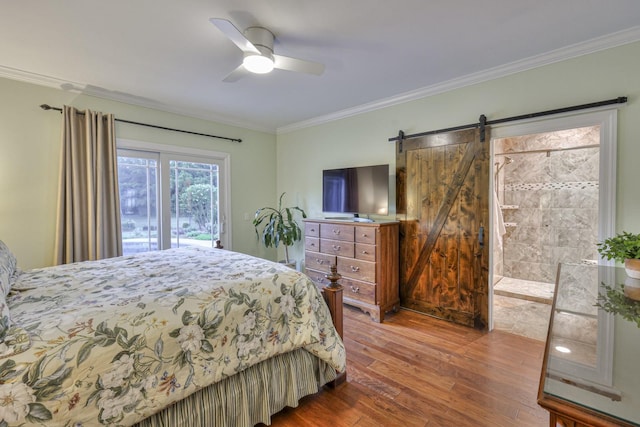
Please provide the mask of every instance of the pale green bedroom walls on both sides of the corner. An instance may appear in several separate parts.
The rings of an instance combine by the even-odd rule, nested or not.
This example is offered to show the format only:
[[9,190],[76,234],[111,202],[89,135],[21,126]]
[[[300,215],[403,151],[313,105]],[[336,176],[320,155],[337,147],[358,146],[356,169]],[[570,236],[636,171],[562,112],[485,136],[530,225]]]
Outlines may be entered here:
[[[473,123],[480,114],[491,120],[628,96],[618,115],[616,228],[640,232],[640,43],[277,136],[7,79],[0,79],[0,93],[0,239],[22,268],[53,259],[61,118],[41,110],[43,103],[242,138],[235,144],[126,124],[116,129],[120,138],[230,153],[233,249],[275,259],[256,242],[245,214],[273,206],[285,191],[288,205],[321,216],[322,169],[389,163],[394,170],[395,147],[387,140],[400,129],[411,134]],[[292,253],[301,259],[302,244]]]

